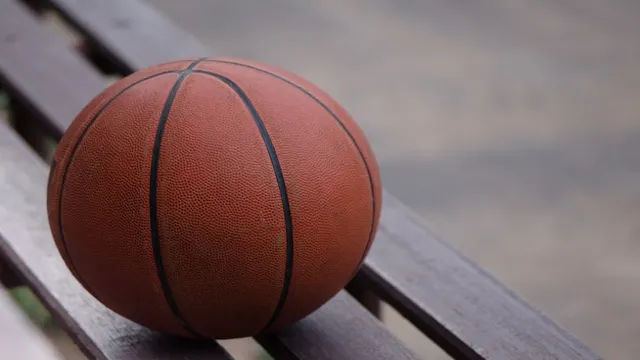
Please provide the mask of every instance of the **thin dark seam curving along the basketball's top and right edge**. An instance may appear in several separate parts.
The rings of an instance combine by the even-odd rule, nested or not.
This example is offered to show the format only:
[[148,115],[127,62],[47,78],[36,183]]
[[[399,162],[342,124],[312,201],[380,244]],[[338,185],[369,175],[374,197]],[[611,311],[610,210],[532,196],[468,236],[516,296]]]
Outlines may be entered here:
[[340,125],[342,130],[344,130],[344,132],[347,133],[347,136],[349,136],[349,138],[351,139],[351,142],[353,143],[353,145],[355,146],[356,150],[358,151],[358,154],[360,154],[360,158],[362,159],[362,163],[364,164],[365,170],[367,171],[367,176],[369,177],[369,187],[370,187],[370,190],[371,190],[371,228],[369,229],[369,238],[367,240],[367,245],[365,246],[364,251],[362,252],[362,256],[360,257],[360,261],[358,262],[358,266],[356,267],[356,270],[351,275],[351,277],[355,276],[355,274],[357,272],[357,269],[360,267],[360,265],[362,265],[362,262],[364,261],[365,254],[367,253],[367,249],[369,248],[369,246],[371,245],[371,242],[373,241],[373,235],[374,235],[373,234],[373,228],[374,228],[375,218],[376,218],[376,196],[375,196],[375,187],[373,185],[373,178],[371,177],[371,169],[369,168],[369,164],[367,164],[367,160],[364,157],[364,153],[362,152],[362,149],[360,149],[360,147],[358,146],[358,143],[356,142],[356,139],[349,132],[347,127],[344,125],[344,123],[342,121],[340,121],[340,118],[338,117],[338,115],[336,115],[333,111],[331,111],[331,109],[329,109],[329,107],[325,103],[323,103],[322,101],[320,101],[320,99],[315,97],[311,92],[309,92],[309,90],[307,90],[307,89],[303,88],[302,86],[294,83],[293,81],[285,79],[282,76],[274,74],[274,73],[272,73],[270,71],[267,71],[267,70],[264,70],[264,69],[261,69],[261,68],[255,67],[255,66],[251,66],[251,65],[246,65],[246,64],[242,64],[242,63],[233,62],[233,61],[207,59],[206,62],[217,62],[217,63],[221,63],[221,64],[229,64],[229,65],[241,66],[241,67],[245,67],[245,68],[249,68],[249,69],[253,69],[253,70],[259,71],[259,72],[261,72],[263,74],[267,74],[267,75],[273,76],[276,79],[279,79],[281,81],[286,82],[287,84],[295,87],[296,89],[300,90],[305,95],[310,97],[313,101],[318,103],[318,105],[322,106],[322,108],[325,111],[327,111],[329,113],[329,115],[331,115],[331,117],[333,117],[333,119]]

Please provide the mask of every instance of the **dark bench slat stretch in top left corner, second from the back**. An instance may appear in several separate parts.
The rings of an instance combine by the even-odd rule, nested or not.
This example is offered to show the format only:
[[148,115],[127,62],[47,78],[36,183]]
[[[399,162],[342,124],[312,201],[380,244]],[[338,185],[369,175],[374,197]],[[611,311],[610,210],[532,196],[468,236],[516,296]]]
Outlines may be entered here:
[[59,104],[70,98],[86,104],[104,88],[104,79],[61,39],[42,31],[22,4],[0,0],[0,9],[0,81],[59,137],[80,111]]

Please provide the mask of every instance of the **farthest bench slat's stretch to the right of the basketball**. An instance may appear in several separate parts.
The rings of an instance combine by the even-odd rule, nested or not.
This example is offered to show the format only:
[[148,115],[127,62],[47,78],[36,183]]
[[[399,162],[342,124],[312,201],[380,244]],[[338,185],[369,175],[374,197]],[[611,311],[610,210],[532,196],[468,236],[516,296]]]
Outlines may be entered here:
[[363,274],[456,359],[601,359],[438,239],[387,192]]

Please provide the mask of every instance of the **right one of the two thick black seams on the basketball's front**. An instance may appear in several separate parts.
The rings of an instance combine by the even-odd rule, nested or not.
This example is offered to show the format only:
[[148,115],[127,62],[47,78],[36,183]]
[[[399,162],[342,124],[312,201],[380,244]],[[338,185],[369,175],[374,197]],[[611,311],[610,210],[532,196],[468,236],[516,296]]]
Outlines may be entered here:
[[289,195],[287,194],[287,188],[284,181],[284,174],[282,173],[282,167],[280,166],[280,160],[278,159],[278,154],[276,152],[276,148],[273,145],[273,141],[271,141],[271,137],[269,136],[269,131],[265,126],[262,118],[258,114],[255,106],[249,100],[247,94],[231,79],[216,74],[210,71],[203,70],[194,70],[195,73],[205,74],[209,76],[213,76],[216,79],[222,81],[226,85],[228,85],[236,94],[240,97],[244,105],[247,107],[251,116],[253,117],[253,121],[255,122],[258,130],[260,131],[260,135],[262,136],[262,140],[267,148],[267,152],[269,153],[269,158],[271,158],[271,165],[273,166],[273,172],[276,177],[276,181],[278,182],[278,188],[280,190],[280,198],[282,200],[282,210],[284,212],[284,228],[285,228],[285,237],[287,243],[287,254],[285,261],[285,271],[284,271],[284,280],[282,282],[282,291],[280,292],[280,299],[271,315],[269,321],[264,326],[263,329],[269,328],[280,315],[280,312],[284,308],[284,304],[286,303],[287,296],[289,295],[289,287],[291,285],[291,275],[293,273],[293,221],[291,219],[291,208],[289,206]]

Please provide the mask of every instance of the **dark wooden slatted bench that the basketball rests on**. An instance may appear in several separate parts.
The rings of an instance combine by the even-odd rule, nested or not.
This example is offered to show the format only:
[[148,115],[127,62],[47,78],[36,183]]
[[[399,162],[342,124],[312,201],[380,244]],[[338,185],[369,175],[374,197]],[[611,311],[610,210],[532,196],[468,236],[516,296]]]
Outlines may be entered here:
[[[68,46],[43,27],[43,9],[62,15],[80,34],[82,46]],[[0,0],[0,86],[10,96],[13,123],[0,123],[0,261],[38,294],[91,358],[231,355],[214,341],[144,329],[84,291],[49,231],[48,164],[34,151],[42,155],[42,135],[33,134],[59,140],[76,113],[106,86],[105,73],[126,75],[163,61],[216,55],[139,0]],[[274,358],[420,358],[423,354],[409,350],[375,317],[379,298],[455,359],[600,359],[434,236],[392,195],[383,196],[375,243],[347,287],[350,293],[341,292],[285,331],[258,337]],[[4,278],[10,278],[6,271]],[[0,307],[3,311],[11,310]],[[11,325],[0,323],[6,326]],[[37,341],[23,336],[29,338],[20,341]],[[1,358],[6,351],[0,348]]]

